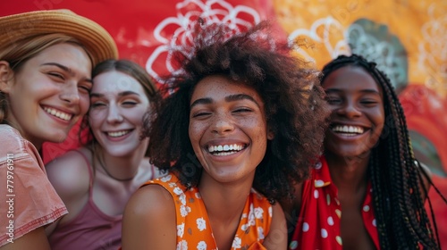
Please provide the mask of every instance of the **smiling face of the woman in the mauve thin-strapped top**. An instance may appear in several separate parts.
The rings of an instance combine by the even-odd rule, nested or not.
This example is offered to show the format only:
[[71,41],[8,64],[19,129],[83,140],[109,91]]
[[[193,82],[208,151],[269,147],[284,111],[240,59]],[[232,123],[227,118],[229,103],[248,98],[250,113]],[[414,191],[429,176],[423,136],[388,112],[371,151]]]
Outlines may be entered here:
[[149,108],[139,81],[120,71],[106,71],[93,79],[89,126],[108,154],[123,156],[147,146],[140,140],[142,119]]

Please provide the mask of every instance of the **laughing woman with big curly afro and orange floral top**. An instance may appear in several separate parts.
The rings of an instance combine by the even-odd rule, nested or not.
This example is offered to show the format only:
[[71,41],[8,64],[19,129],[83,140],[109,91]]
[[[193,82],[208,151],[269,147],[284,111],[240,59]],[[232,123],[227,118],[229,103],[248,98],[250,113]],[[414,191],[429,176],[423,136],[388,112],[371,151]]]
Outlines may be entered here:
[[270,28],[198,21],[192,49],[173,48],[181,71],[166,79],[172,94],[146,133],[152,163],[168,175],[131,197],[122,249],[286,248],[275,200],[308,176],[326,108],[318,71]]

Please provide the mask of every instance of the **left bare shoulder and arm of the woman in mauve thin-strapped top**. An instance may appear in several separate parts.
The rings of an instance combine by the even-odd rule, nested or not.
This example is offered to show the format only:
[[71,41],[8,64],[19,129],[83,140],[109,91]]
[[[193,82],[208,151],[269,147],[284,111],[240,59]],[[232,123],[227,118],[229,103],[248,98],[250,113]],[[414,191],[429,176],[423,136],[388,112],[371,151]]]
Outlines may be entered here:
[[[85,154],[89,154],[84,152]],[[59,223],[75,218],[89,200],[89,166],[77,152],[68,152],[46,164],[46,174],[57,195],[67,207],[68,214],[46,227],[51,235]]]

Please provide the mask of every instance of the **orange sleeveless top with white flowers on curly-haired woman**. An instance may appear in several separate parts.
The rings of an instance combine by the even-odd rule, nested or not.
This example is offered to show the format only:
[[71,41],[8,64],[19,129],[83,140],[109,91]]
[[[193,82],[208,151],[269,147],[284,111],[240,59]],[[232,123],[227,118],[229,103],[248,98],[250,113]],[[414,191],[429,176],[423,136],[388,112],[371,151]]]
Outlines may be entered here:
[[[197,187],[187,189],[173,174],[145,183],[145,185],[151,184],[164,187],[173,196],[177,218],[177,250],[218,249],[209,224],[207,209]],[[232,241],[232,250],[266,249],[262,243],[268,234],[271,222],[272,204],[266,197],[251,189]]]

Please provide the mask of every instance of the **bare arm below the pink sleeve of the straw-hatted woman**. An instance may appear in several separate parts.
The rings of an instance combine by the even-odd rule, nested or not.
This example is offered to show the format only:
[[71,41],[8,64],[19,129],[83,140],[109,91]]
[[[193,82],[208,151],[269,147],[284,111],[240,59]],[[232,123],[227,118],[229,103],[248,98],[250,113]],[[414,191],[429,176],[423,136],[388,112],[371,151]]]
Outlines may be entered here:
[[46,239],[45,230],[43,227],[34,229],[29,233],[14,239],[13,243],[8,243],[0,247],[0,250],[50,250],[48,240]]

